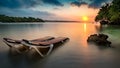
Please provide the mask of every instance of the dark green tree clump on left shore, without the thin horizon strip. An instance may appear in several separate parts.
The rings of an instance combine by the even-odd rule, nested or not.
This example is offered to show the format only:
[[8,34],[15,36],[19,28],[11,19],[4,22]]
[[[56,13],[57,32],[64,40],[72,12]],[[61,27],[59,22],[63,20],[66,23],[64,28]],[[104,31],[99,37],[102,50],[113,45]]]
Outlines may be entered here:
[[33,17],[10,17],[0,15],[0,22],[44,22],[42,19]]

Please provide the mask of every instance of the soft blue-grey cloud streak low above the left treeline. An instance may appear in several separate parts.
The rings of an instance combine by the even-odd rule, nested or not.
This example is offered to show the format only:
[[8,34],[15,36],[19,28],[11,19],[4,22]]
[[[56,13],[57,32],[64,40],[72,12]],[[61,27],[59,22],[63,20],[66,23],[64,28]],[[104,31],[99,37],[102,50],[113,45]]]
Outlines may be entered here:
[[0,14],[5,14],[8,16],[20,16],[20,17],[38,17],[47,19],[49,17],[54,17],[55,15],[47,11],[34,11],[31,9],[9,9],[1,8]]

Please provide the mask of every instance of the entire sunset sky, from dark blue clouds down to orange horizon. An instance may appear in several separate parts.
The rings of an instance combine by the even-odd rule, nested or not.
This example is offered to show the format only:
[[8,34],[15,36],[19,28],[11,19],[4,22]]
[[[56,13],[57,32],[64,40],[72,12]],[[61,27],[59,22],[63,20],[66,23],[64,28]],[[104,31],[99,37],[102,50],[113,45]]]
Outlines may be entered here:
[[100,7],[112,0],[0,0],[0,14],[44,20],[94,21]]

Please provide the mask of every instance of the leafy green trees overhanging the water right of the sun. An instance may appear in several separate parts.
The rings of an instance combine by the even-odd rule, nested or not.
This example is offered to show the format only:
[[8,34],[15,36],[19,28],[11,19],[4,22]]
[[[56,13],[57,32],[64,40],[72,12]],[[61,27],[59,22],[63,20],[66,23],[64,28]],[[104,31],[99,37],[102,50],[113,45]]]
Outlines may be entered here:
[[95,21],[100,24],[120,25],[120,0],[113,0],[103,5]]

